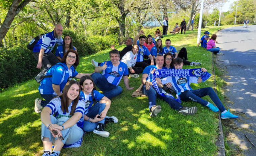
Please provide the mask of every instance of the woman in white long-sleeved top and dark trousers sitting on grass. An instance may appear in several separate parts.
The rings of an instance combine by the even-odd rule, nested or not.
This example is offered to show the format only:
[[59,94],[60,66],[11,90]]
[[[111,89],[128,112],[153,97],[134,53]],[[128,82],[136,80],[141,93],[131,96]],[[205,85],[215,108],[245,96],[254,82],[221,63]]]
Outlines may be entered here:
[[[142,73],[142,71],[143,71],[142,67],[136,66],[138,51],[139,51],[139,46],[133,45],[132,51],[127,52],[121,60],[128,67],[129,77],[138,78],[139,74]],[[147,66],[147,65],[148,64],[145,63],[145,66]]]

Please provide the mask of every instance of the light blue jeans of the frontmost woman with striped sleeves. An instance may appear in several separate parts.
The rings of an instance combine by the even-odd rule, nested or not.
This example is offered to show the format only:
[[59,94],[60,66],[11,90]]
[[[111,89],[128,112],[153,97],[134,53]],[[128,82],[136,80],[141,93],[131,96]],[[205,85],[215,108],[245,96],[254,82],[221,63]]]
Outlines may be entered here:
[[[54,116],[50,115],[50,120],[52,124],[62,125],[68,119],[69,119],[68,117],[62,117],[62,118],[56,119]],[[42,127],[41,128],[42,141],[44,137],[48,137],[50,139],[50,142],[54,144],[57,137],[54,138],[52,136],[50,130],[45,126],[45,124],[42,123],[41,127]],[[63,144],[71,145],[76,143],[83,137],[84,131],[82,128],[74,124],[72,127],[62,130],[61,133],[62,133],[62,137],[64,138],[64,140],[62,140]]]

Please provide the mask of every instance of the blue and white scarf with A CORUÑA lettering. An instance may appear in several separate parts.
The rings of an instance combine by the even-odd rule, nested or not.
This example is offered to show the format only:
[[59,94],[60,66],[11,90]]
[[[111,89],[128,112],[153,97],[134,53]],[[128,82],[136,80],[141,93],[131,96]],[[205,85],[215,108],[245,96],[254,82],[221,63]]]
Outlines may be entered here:
[[152,85],[157,91],[157,93],[161,96],[170,96],[175,99],[177,102],[181,103],[180,97],[178,99],[174,98],[171,94],[168,93],[160,93],[159,88],[157,86],[156,77],[167,77],[167,76],[195,76],[201,77],[203,82],[211,77],[211,74],[208,72],[203,72],[201,68],[195,69],[156,69],[152,76]]

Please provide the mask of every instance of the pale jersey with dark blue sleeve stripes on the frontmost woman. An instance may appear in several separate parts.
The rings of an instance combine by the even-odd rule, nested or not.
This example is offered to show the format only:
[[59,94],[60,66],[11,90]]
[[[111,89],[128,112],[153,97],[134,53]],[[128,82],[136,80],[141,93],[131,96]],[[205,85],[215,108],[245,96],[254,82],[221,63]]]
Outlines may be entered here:
[[[67,111],[63,112],[61,110],[61,98],[57,97],[52,99],[47,105],[46,107],[51,108],[51,115],[54,115],[54,117],[56,119],[59,119],[61,117],[68,117],[70,118],[70,112],[71,112],[71,108],[72,108],[73,102],[68,106],[68,113]],[[83,128],[84,125],[84,112],[85,112],[85,102],[82,100],[79,100],[76,108],[75,108],[75,113],[79,112],[82,114],[82,117],[77,121],[76,125],[80,128]]]

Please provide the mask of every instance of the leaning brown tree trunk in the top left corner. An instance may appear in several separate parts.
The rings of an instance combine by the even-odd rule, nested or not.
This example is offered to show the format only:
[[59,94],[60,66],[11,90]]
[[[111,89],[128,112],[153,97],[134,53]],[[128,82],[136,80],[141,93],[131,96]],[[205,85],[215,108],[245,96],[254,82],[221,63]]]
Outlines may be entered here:
[[11,23],[13,22],[15,16],[26,6],[31,0],[24,0],[21,4],[22,0],[13,0],[13,3],[11,3],[11,6],[6,14],[6,17],[4,19],[4,22],[0,28],[0,44],[8,32]]

